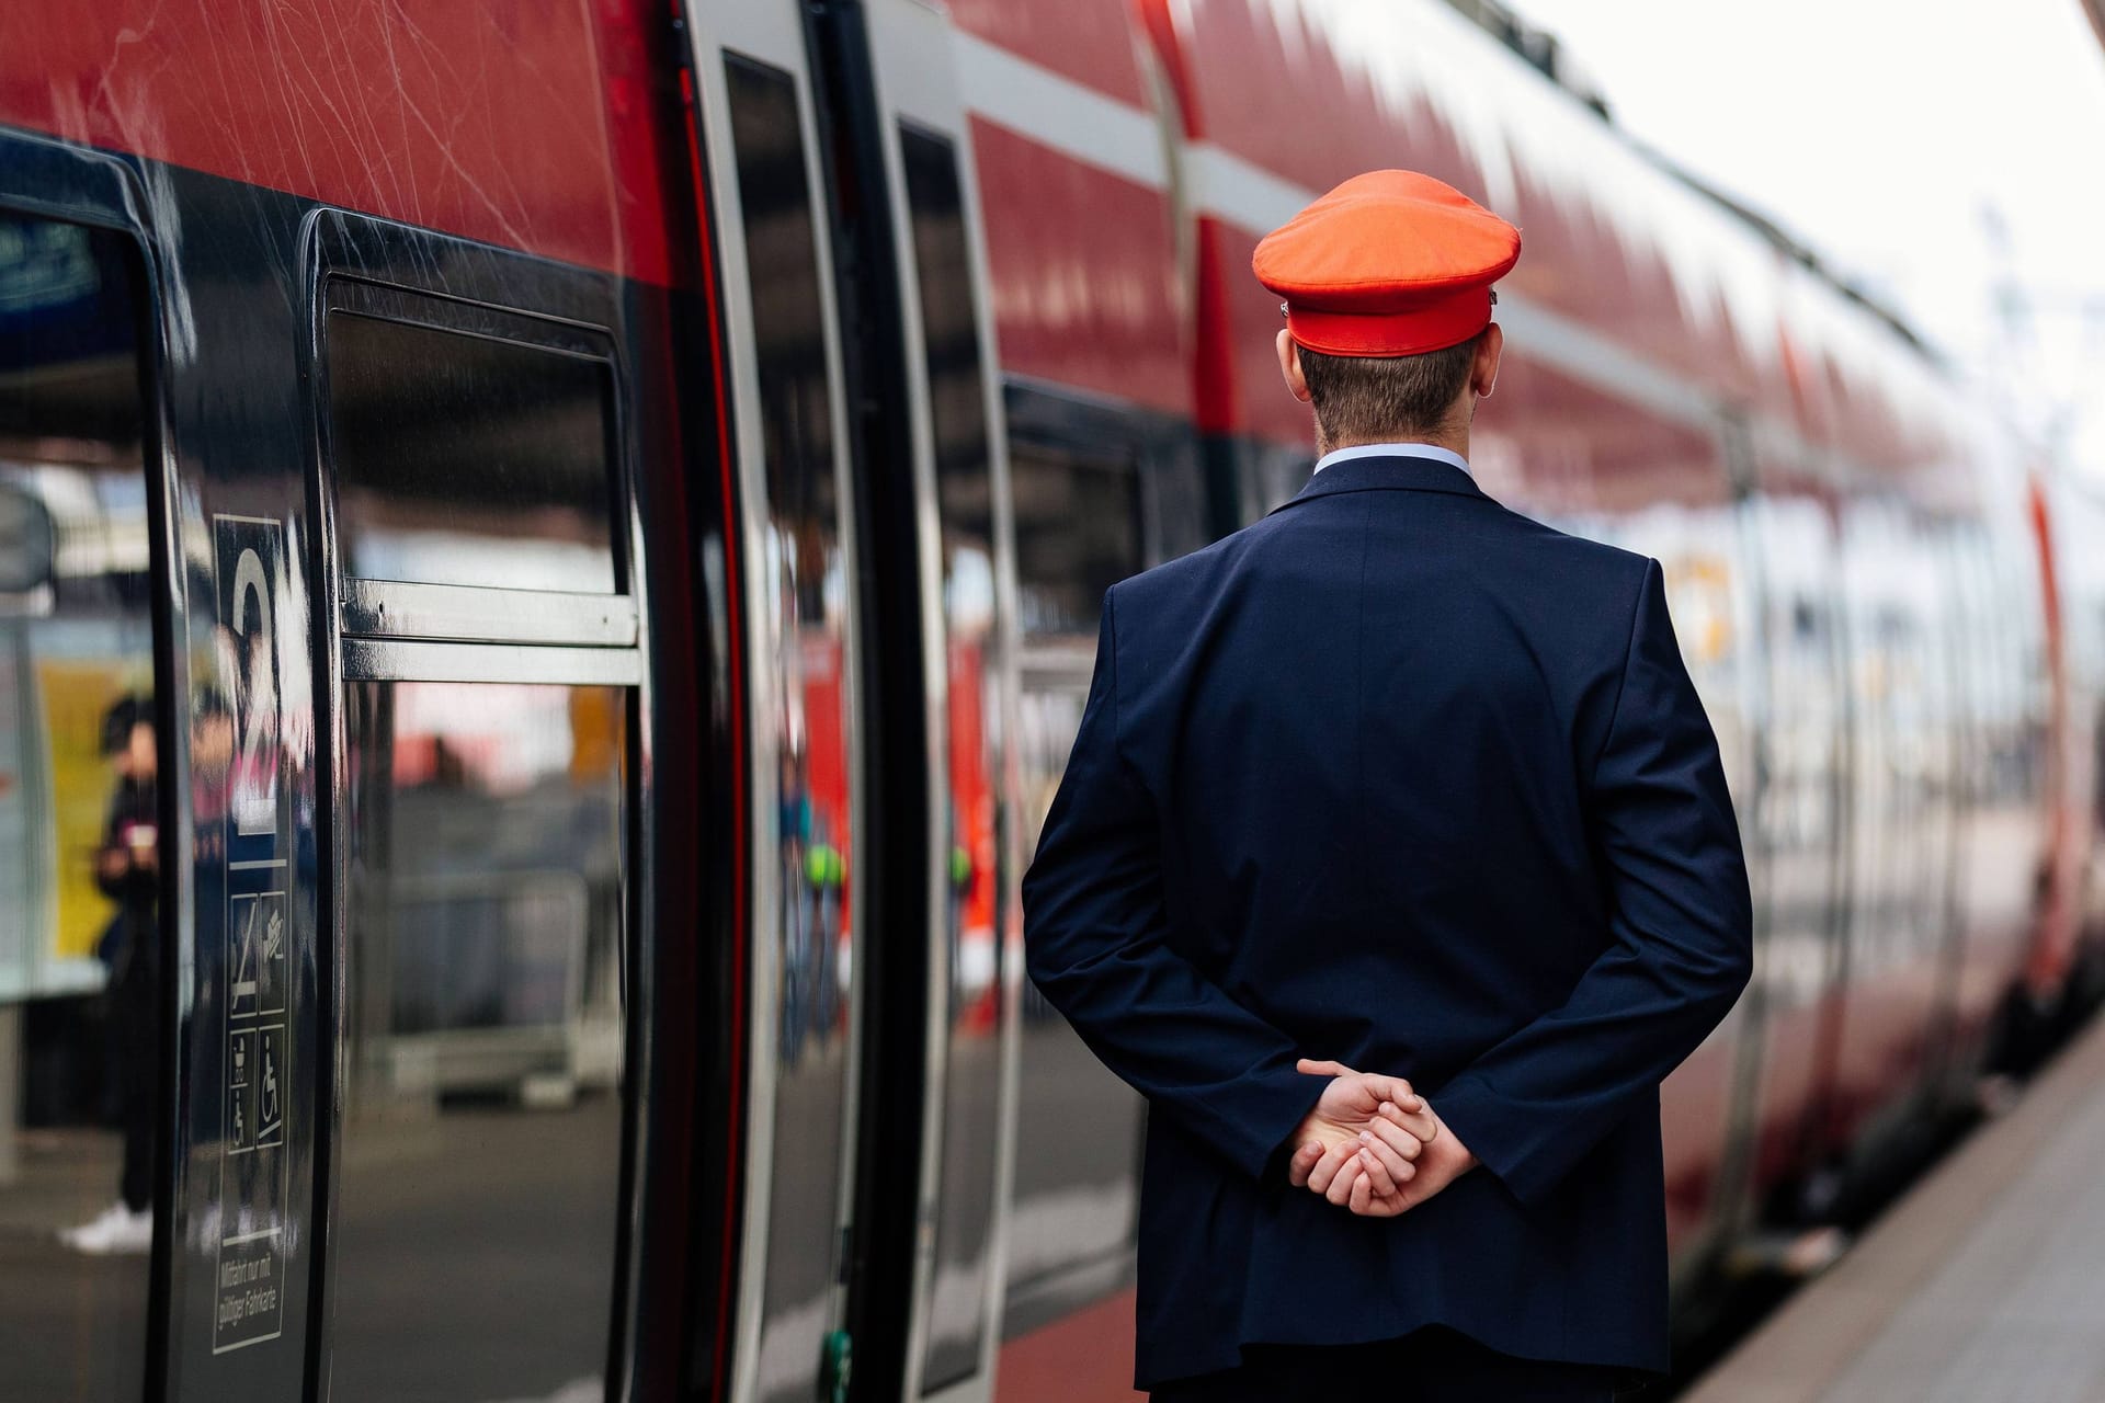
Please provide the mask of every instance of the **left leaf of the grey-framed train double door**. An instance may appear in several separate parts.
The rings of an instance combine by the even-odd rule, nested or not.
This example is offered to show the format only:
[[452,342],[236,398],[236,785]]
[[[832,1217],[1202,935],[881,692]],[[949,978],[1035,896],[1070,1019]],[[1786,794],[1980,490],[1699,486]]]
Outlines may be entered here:
[[836,248],[802,8],[688,4],[722,276],[751,715],[745,1134],[735,1399],[846,1369],[855,1020],[867,982],[865,583]]

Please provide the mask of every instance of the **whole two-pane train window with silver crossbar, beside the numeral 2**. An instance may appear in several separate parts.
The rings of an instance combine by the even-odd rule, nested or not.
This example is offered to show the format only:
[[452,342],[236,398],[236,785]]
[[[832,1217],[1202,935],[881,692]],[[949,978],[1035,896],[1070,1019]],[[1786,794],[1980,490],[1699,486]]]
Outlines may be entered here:
[[613,355],[347,280],[324,316],[339,564],[410,581],[341,581],[330,1392],[600,1397],[642,671]]

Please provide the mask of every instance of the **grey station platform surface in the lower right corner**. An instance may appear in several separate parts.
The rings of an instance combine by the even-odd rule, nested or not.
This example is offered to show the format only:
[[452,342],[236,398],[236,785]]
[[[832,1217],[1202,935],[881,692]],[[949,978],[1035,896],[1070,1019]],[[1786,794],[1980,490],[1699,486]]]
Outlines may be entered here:
[[2105,1403],[2105,1020],[1682,1403]]

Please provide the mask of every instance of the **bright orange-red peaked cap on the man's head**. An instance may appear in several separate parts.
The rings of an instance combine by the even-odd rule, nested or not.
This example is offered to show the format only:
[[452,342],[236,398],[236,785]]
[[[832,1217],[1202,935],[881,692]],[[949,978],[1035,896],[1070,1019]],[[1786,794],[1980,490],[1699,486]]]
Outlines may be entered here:
[[1368,170],[1257,244],[1250,271],[1286,330],[1326,355],[1423,355],[1490,324],[1520,229],[1417,170]]

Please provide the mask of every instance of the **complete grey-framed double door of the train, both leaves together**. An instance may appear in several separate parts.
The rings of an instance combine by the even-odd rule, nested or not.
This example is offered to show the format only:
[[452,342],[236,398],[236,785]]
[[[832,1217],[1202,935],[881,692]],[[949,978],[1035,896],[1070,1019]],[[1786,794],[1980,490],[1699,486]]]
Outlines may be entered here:
[[916,4],[688,13],[747,366],[745,583],[773,610],[754,713],[779,717],[754,755],[781,860],[756,881],[733,1397],[836,1390],[848,1350],[859,1397],[983,1397],[1015,585],[949,29]]

